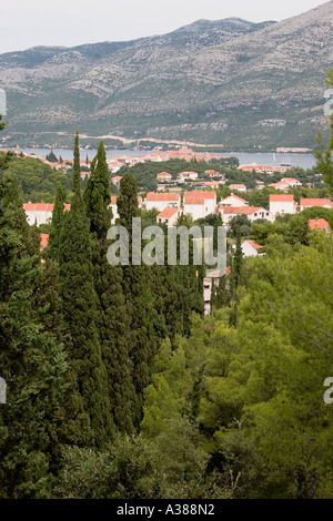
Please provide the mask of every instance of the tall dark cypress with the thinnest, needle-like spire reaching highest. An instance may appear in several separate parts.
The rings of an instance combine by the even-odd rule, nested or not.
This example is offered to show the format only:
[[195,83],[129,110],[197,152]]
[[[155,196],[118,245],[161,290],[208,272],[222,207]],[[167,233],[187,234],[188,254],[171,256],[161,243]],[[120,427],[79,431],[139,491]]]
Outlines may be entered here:
[[[92,429],[91,445],[103,447],[113,430],[108,395],[108,375],[95,326],[98,297],[93,284],[90,222],[80,190],[80,152],[75,137],[73,192],[60,246],[60,295],[64,323],[71,336],[70,370],[75,392],[82,397]],[[81,432],[79,426],[78,437]],[[72,426],[73,429],[75,426]]]

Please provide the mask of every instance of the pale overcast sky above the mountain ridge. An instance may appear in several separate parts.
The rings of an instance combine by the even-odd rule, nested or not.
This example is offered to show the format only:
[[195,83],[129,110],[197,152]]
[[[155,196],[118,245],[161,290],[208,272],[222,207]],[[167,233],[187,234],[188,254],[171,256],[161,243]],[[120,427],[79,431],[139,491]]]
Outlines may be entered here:
[[326,0],[0,0],[0,53],[163,34],[199,19],[284,20]]

